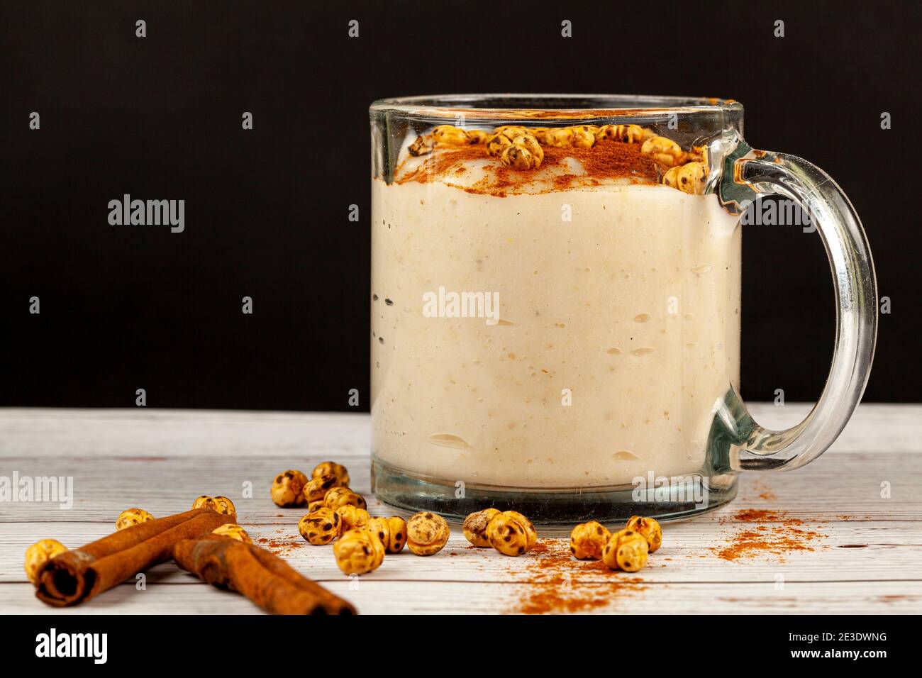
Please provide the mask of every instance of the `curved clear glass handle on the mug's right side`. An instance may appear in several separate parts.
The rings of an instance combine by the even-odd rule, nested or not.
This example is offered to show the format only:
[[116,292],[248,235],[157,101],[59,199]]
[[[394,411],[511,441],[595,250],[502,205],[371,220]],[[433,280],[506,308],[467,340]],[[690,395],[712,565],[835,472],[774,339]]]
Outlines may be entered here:
[[732,436],[736,444],[727,450],[729,470],[798,469],[822,455],[842,433],[868,383],[878,319],[874,262],[855,208],[819,167],[785,153],[751,149],[741,139],[723,164],[716,192],[725,208],[741,215],[758,197],[795,201],[820,232],[832,268],[833,364],[810,414],[786,431],[772,431],[751,418],[741,399],[731,407],[741,410],[736,416],[717,412],[737,434]]

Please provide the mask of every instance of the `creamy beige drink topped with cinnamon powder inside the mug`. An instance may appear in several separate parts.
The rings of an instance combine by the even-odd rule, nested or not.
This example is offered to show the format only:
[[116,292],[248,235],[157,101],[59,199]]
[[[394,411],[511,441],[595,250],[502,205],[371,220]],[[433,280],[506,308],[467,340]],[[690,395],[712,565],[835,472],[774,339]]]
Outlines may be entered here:
[[[739,380],[737,219],[700,195],[703,161],[670,173],[663,144],[593,133],[555,146],[538,130],[539,162],[436,134],[373,181],[384,464],[518,488],[703,468]],[[672,166],[694,162],[681,153]]]

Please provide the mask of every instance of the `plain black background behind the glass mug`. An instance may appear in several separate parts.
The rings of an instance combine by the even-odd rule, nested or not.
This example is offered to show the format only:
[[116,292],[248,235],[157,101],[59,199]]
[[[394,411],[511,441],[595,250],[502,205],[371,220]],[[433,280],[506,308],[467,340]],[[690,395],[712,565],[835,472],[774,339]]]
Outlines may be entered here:
[[[150,407],[349,409],[368,393],[368,105],[468,91],[742,101],[749,143],[830,172],[868,231],[892,314],[865,399],[919,399],[918,3],[0,7],[0,405],[145,388]],[[185,232],[110,226],[124,193],[183,198]],[[820,238],[752,227],[743,250],[743,395],[813,400],[834,328]]]

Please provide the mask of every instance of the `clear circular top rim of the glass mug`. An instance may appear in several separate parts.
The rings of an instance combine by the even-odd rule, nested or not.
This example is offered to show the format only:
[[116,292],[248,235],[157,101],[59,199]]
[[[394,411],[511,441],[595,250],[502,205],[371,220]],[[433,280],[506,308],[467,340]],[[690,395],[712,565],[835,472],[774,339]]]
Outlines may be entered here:
[[412,117],[545,120],[637,116],[663,113],[741,112],[733,99],[645,94],[434,94],[372,102],[369,113]]

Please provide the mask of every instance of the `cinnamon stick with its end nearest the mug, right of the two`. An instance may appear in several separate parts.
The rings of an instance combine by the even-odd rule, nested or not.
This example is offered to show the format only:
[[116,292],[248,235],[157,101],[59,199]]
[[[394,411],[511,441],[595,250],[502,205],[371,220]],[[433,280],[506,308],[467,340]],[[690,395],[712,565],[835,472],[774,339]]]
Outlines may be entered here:
[[253,544],[211,534],[180,541],[173,559],[183,570],[219,589],[242,593],[269,613],[355,614],[349,602]]

